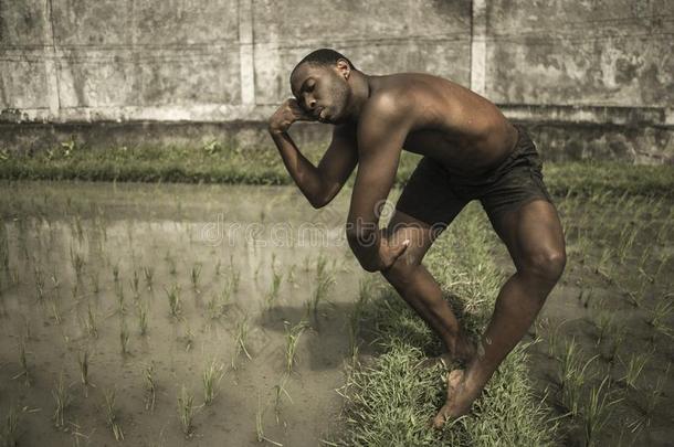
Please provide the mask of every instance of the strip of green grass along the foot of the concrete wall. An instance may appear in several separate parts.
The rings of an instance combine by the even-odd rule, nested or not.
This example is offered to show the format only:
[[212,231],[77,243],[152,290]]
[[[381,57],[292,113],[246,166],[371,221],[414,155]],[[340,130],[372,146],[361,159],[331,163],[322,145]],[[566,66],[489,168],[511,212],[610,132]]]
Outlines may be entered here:
[[[306,147],[316,163],[325,148]],[[420,157],[403,152],[396,184],[403,184]],[[583,161],[545,163],[550,193],[558,196],[601,192],[674,196],[674,166],[634,166]],[[241,149],[212,141],[202,147],[61,147],[33,155],[0,150],[1,179],[106,180],[187,183],[291,184],[273,147]],[[352,184],[351,175],[348,184]]]

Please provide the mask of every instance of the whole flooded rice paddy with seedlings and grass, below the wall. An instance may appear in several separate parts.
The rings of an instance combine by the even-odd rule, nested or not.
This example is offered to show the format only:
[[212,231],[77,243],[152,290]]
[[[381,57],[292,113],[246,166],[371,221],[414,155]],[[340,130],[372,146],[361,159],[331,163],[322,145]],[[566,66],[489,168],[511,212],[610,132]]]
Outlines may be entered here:
[[[671,445],[674,168],[545,166],[565,274],[472,414],[436,432],[443,374],[419,362],[439,339],[351,255],[350,185],[314,210],[275,184],[281,160],[213,152],[157,177],[124,151],[98,171],[4,152],[1,445]],[[515,272],[477,202],[424,264],[475,337]]]

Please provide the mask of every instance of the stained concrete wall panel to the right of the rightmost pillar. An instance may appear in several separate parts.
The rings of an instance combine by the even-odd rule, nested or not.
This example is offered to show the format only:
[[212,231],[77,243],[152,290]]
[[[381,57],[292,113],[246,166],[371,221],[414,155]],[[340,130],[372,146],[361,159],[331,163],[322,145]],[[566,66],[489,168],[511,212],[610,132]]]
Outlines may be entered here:
[[491,0],[486,94],[501,104],[674,104],[672,0]]

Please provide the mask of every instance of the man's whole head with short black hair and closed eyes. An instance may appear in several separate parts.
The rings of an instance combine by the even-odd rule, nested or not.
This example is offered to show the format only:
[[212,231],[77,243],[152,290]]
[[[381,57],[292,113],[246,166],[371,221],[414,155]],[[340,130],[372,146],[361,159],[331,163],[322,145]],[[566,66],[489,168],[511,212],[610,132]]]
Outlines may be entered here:
[[338,124],[347,118],[351,88],[348,84],[356,67],[341,53],[316,50],[291,73],[291,91],[302,108],[323,123]]

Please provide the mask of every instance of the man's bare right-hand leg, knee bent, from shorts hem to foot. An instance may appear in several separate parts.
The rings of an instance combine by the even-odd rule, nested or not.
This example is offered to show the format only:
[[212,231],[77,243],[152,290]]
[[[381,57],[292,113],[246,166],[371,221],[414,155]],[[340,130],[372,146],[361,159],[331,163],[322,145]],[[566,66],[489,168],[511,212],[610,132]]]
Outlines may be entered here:
[[463,374],[450,375],[451,393],[433,424],[466,414],[503,359],[522,340],[566,265],[564,232],[555,206],[533,200],[492,219],[517,272],[502,287],[477,355]]

